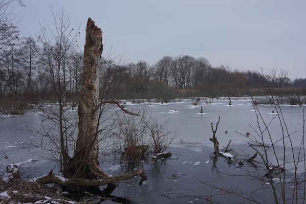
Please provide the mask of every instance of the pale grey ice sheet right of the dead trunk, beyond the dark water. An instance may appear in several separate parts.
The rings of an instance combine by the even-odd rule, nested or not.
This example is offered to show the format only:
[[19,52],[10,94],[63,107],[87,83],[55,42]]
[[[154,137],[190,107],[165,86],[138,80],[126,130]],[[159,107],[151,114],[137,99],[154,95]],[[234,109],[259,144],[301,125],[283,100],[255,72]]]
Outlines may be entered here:
[[[211,104],[207,105],[206,101],[211,102]],[[195,106],[195,102],[198,105]],[[202,114],[200,113],[201,108],[203,110]],[[268,129],[273,140],[281,139],[283,133],[275,108],[273,106],[258,106],[258,109],[265,123],[269,125]],[[293,146],[296,147],[300,146],[303,136],[303,109],[302,106],[281,107],[289,134],[295,132],[292,135],[292,141]],[[259,131],[256,113],[250,98],[231,98],[231,105],[229,105],[227,98],[211,101],[182,99],[180,103],[152,104],[147,107],[147,110],[152,110],[152,113],[158,115],[161,120],[167,120],[170,128],[179,129],[180,135],[174,143],[182,140],[184,142],[212,145],[212,142],[209,141],[209,138],[212,137],[211,122],[213,122],[215,128],[219,116],[221,119],[216,136],[218,136],[220,145],[227,145],[230,139],[232,144],[248,143],[250,139],[240,134],[245,135],[249,132],[256,136],[255,130]],[[273,110],[274,113],[272,113]],[[281,118],[283,116],[280,115]],[[263,128],[262,122],[260,124]],[[227,131],[227,134],[225,131]],[[286,132],[284,134],[286,135]]]

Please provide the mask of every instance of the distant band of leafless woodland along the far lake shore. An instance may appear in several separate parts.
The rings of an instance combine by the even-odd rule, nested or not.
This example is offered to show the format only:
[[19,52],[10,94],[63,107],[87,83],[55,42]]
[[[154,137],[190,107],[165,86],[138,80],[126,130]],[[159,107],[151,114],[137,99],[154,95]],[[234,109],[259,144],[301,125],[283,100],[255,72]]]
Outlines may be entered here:
[[[0,95],[23,100],[52,100],[57,87],[70,100],[76,100],[81,87],[83,53],[68,41],[42,43],[32,37],[22,44],[0,50]],[[63,42],[62,42],[63,43]],[[277,94],[305,94],[306,79],[288,78],[287,70],[272,68],[269,74],[258,71],[212,67],[204,58],[188,55],[164,56],[155,64],[146,61],[122,63],[122,56],[101,57],[102,93],[115,99],[160,99],[220,95],[262,95],[266,88]],[[266,71],[266,70],[264,70]],[[55,89],[56,88],[56,89]]]

